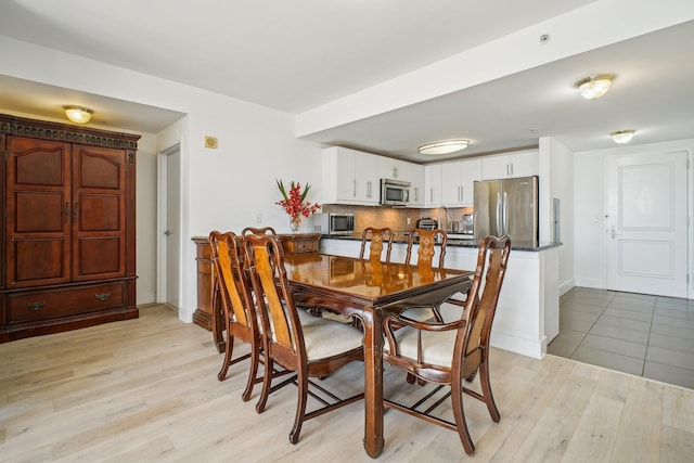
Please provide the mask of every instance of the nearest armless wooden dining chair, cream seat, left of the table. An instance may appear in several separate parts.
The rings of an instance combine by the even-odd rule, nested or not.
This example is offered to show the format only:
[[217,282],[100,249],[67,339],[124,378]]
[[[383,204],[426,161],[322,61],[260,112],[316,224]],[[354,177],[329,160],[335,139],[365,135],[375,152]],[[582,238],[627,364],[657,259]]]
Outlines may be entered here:
[[[265,410],[271,390],[296,381],[298,400],[290,433],[290,441],[296,443],[305,421],[363,398],[363,393],[360,393],[339,399],[309,381],[309,377],[325,378],[349,362],[363,361],[363,334],[348,324],[297,310],[284,267],[284,252],[274,236],[247,235],[244,237],[244,247],[264,332],[266,374],[256,411],[261,413]],[[285,380],[273,387],[269,372],[275,363],[295,372],[295,378]],[[312,386],[310,393],[309,384]],[[307,412],[309,394],[323,406]]]

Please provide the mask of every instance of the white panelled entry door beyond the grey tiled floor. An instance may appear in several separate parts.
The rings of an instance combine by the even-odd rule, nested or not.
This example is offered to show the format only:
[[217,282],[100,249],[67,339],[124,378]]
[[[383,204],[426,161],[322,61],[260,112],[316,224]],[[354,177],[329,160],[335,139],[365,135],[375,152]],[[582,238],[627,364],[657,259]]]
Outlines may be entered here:
[[607,160],[607,288],[686,297],[686,153]]

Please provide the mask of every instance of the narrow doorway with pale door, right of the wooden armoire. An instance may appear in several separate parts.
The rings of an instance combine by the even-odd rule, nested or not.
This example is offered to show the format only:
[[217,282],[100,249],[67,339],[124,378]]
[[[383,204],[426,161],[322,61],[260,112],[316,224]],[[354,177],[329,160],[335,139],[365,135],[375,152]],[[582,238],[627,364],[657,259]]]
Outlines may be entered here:
[[157,303],[180,307],[181,150],[172,146],[158,158]]

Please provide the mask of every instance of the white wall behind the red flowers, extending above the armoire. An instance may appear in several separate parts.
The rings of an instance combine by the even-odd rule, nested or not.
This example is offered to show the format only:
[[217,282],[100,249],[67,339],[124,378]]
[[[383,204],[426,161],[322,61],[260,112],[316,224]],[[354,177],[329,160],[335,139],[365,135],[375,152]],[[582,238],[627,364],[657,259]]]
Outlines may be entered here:
[[[275,178],[310,182],[312,194],[320,197],[320,146],[296,139],[292,115],[7,37],[0,37],[0,74],[188,114],[156,142],[150,137],[140,142],[137,260],[142,273],[138,304],[152,301],[156,291],[152,273],[156,262],[156,154],[162,150],[181,144],[184,203],[179,317],[184,321],[192,319],[196,308],[192,236],[206,235],[211,229],[241,231],[254,223],[256,213],[262,216],[261,226],[288,231],[287,217],[274,205],[280,198]],[[203,147],[206,134],[219,139],[217,150]]]

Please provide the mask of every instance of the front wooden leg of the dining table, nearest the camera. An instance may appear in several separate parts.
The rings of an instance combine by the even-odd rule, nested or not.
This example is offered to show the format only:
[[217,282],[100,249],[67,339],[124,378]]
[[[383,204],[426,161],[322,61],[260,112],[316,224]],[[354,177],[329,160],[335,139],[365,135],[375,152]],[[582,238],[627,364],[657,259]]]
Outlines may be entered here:
[[364,330],[364,449],[371,458],[383,451],[383,313],[365,308]]

